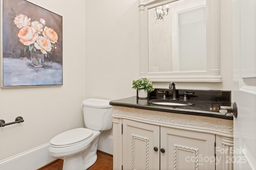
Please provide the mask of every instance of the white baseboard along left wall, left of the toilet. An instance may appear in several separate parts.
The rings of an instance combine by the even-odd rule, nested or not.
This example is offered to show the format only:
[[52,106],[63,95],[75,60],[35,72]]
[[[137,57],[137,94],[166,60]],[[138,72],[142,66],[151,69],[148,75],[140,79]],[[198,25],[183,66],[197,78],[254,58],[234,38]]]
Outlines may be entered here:
[[56,160],[56,158],[50,156],[49,146],[50,143],[46,143],[10,158],[0,160],[0,170],[36,170]]

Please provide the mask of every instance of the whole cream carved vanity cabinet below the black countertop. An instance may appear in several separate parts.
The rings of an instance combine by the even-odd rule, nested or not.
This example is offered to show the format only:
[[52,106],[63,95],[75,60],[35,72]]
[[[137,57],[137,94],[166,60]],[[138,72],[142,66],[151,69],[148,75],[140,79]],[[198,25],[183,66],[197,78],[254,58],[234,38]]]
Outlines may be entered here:
[[114,170],[233,169],[232,120],[113,106]]

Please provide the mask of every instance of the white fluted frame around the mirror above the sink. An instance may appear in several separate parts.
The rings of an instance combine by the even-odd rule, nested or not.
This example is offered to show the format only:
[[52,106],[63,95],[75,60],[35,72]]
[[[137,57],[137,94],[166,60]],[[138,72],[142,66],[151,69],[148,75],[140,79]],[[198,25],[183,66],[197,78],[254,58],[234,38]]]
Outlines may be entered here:
[[206,70],[148,71],[148,10],[177,0],[140,0],[140,77],[153,82],[222,82],[220,75],[220,0],[206,0]]

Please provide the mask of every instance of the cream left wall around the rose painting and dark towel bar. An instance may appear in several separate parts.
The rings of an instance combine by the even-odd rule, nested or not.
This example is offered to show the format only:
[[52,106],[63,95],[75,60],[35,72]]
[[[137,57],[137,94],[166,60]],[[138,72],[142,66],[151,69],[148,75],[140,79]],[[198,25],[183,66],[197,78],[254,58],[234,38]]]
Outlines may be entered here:
[[23,123],[0,127],[0,160],[84,126],[85,1],[29,1],[63,17],[63,86],[0,89],[0,119],[8,123],[24,118]]

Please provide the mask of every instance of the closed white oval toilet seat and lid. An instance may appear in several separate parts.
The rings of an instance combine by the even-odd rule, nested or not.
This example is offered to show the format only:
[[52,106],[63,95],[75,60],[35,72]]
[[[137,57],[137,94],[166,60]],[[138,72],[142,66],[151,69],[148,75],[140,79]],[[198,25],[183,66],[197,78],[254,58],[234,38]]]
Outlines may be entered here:
[[90,139],[93,131],[86,128],[72,129],[52,138],[50,146],[54,148],[63,148],[78,145]]

